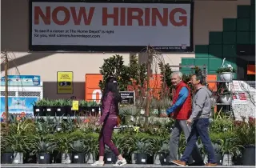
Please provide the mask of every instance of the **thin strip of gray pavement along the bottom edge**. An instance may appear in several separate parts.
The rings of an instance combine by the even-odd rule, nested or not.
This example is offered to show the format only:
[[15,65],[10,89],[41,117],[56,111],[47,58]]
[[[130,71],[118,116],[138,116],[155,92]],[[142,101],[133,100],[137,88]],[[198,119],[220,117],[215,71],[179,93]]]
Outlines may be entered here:
[[[4,164],[1,164],[1,167],[2,168],[12,168],[12,167],[23,167],[23,168],[30,168],[30,167],[33,167],[33,168],[65,168],[65,167],[68,167],[68,168],[94,168],[94,167],[98,167],[98,166],[90,166],[90,165],[87,165],[87,164],[48,164],[48,165],[38,165],[38,164],[10,164],[10,165],[4,165]],[[113,168],[114,166],[112,165],[105,165],[104,168]],[[126,167],[126,168],[170,168],[170,167],[177,167],[177,166],[161,166],[161,165],[126,165],[126,166],[123,166],[123,167]],[[190,166],[190,167],[206,167],[206,166]],[[234,168],[234,167],[242,167],[242,168],[255,168],[255,166],[216,166],[216,167],[219,167],[219,168]]]

